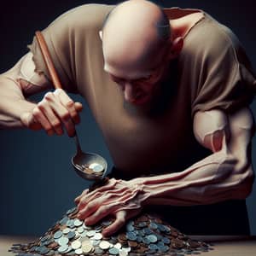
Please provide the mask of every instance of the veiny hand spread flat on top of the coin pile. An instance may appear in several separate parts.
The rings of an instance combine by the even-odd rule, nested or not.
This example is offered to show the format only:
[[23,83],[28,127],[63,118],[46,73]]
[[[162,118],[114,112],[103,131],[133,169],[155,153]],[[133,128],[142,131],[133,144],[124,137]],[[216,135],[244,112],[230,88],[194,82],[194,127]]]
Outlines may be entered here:
[[86,225],[93,225],[102,218],[114,217],[113,224],[102,231],[103,236],[111,236],[125,224],[127,219],[142,211],[145,196],[142,186],[136,180],[124,181],[111,178],[108,183],[91,192],[85,189],[75,199],[79,207],[78,218],[84,220]]

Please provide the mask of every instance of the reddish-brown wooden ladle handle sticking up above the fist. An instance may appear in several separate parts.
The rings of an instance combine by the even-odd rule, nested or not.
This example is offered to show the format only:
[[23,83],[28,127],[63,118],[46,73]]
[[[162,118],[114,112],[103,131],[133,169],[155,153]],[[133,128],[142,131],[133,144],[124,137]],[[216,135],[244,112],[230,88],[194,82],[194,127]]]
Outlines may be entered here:
[[49,71],[50,78],[52,79],[52,83],[54,84],[55,89],[61,89],[62,88],[61,81],[60,81],[60,79],[58,77],[58,74],[55,70],[54,63],[51,60],[51,56],[49,54],[49,49],[48,49],[47,44],[44,40],[44,36],[41,32],[37,31],[36,32],[36,38],[38,40],[39,47],[40,47],[42,55],[44,57],[45,65],[46,65],[46,67]]

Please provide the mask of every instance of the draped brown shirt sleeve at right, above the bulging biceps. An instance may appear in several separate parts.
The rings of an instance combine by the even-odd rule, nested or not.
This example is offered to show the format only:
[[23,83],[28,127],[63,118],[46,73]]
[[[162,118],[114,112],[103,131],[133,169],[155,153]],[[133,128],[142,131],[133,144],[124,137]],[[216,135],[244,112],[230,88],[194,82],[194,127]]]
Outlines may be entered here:
[[234,112],[249,105],[256,93],[253,68],[234,33],[220,26],[207,36],[199,61],[192,117],[197,111],[212,108]]

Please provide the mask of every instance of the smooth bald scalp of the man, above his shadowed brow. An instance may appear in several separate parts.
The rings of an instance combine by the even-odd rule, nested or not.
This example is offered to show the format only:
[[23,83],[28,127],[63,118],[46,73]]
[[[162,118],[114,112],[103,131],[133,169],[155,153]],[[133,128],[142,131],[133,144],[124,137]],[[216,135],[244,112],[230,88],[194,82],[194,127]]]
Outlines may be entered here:
[[154,61],[149,62],[157,65],[171,33],[162,9],[145,0],[120,3],[108,15],[102,29],[105,67],[110,72],[116,68],[125,71],[151,68],[148,61],[153,56]]

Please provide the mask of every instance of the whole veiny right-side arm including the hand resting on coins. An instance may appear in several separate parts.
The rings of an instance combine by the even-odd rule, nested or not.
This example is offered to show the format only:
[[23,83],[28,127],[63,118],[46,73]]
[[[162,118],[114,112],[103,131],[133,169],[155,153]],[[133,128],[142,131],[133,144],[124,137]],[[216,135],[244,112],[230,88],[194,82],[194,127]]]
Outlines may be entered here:
[[78,218],[96,224],[114,215],[113,224],[103,231],[110,236],[145,205],[191,206],[246,198],[253,187],[250,154],[254,128],[248,108],[229,115],[220,110],[195,113],[195,137],[212,150],[211,155],[183,172],[130,181],[111,178],[92,192],[86,189],[75,199]]

